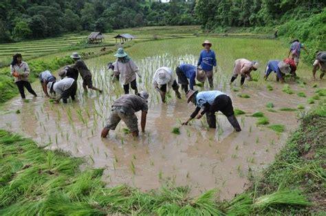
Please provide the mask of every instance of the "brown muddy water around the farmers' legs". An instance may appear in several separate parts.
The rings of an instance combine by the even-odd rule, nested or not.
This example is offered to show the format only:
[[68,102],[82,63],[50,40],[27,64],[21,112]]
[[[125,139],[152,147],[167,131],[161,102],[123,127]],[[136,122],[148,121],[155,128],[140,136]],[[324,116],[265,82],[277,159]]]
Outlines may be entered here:
[[[172,128],[179,127],[180,120],[186,120],[195,107],[187,105],[184,96],[175,100],[173,92],[172,99],[162,104],[151,87],[151,74],[163,65],[174,68],[178,63],[195,61],[196,57],[191,55],[153,56],[136,61],[142,72],[142,79],[138,79],[140,89],[149,89],[151,94],[146,133],[139,138],[124,134],[123,122],[116,131],[110,131],[107,139],[100,138],[111,103],[122,94],[122,88],[112,83],[111,72],[105,69],[102,60],[87,61],[87,64],[94,74],[94,84],[104,89],[105,94],[83,94],[79,80],[78,102],[54,105],[41,97],[41,87],[34,83],[40,96],[30,98],[30,102],[22,102],[20,98],[8,102],[0,117],[0,127],[29,136],[50,149],[63,149],[85,157],[94,167],[105,167],[103,180],[108,186],[129,184],[148,191],[174,182],[178,186],[191,186],[192,195],[217,188],[222,199],[229,199],[246,188],[249,170],[257,175],[256,171],[272,162],[287,136],[297,127],[298,112],[277,110],[295,108],[298,104],[309,109],[309,105],[306,105],[307,98],[283,93],[283,85],[274,81],[269,82],[273,91],[267,91],[262,81],[246,83],[241,92],[251,98],[239,98],[239,92],[231,91],[227,84],[230,74],[217,69],[217,89],[231,96],[234,107],[248,115],[263,111],[270,124],[283,124],[286,131],[277,134],[265,126],[257,126],[256,118],[243,115],[237,117],[243,131],[236,133],[226,117],[218,114],[218,129],[208,129],[203,118],[181,127],[181,134],[175,135],[171,133]],[[235,81],[236,85],[239,81]],[[319,85],[323,87],[323,83]],[[310,87],[299,87],[296,83],[290,87],[295,92],[304,91],[307,96],[314,94]],[[277,112],[267,111],[267,102],[273,102]],[[16,114],[18,109],[21,114]]]

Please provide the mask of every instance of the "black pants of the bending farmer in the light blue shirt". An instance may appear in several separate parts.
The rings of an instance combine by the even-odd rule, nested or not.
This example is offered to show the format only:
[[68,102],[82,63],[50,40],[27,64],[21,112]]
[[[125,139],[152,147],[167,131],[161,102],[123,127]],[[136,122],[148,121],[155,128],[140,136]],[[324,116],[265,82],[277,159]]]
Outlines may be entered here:
[[226,117],[233,116],[232,100],[229,96],[222,94],[217,96],[212,105],[210,105],[209,111],[206,112],[206,119],[210,128],[216,128],[216,116],[215,112],[221,111]]

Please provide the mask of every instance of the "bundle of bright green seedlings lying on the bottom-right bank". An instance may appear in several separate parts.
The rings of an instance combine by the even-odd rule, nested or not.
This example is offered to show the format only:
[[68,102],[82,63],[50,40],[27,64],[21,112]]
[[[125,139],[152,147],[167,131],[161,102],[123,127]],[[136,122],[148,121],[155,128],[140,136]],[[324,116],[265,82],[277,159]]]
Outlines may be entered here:
[[281,189],[255,199],[253,204],[254,208],[260,209],[275,205],[309,206],[310,203],[298,189]]

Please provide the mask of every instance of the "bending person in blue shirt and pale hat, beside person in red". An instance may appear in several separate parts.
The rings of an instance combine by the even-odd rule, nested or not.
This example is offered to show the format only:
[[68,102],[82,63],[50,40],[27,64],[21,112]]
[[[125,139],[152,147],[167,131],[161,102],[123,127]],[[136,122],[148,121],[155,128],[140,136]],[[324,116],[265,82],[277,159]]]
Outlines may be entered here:
[[285,63],[284,61],[272,60],[272,61],[268,61],[268,65],[266,67],[265,76],[264,76],[265,80],[267,80],[271,72],[276,73],[277,82],[281,80],[281,83],[284,83],[285,74],[290,73],[291,68],[290,65]]

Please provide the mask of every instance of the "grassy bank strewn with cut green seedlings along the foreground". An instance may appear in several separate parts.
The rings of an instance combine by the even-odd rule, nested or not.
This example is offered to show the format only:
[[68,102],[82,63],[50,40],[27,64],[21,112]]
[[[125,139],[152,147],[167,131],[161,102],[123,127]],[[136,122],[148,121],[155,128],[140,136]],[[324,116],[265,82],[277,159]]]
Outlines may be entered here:
[[0,131],[1,215],[248,215],[321,213],[325,210],[325,104],[306,114],[276,160],[252,186],[230,201],[215,191],[196,198],[190,188],[166,186],[142,193],[107,187],[102,169],[79,169],[83,160],[45,150]]

